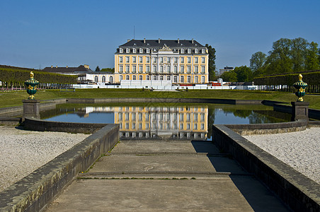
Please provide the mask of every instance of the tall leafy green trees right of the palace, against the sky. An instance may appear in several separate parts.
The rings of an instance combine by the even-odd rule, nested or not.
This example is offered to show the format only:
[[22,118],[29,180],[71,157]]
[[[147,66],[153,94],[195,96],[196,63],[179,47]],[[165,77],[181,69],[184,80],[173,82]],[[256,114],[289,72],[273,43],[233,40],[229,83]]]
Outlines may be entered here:
[[308,42],[302,37],[281,38],[273,42],[268,55],[263,52],[252,54],[250,66],[253,77],[317,70],[320,69],[320,49],[316,42]]

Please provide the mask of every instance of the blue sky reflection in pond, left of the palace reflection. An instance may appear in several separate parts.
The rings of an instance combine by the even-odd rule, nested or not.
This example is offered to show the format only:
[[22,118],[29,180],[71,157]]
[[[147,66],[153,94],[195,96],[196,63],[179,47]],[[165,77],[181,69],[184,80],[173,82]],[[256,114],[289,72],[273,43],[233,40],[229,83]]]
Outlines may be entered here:
[[113,112],[91,112],[86,115],[86,117],[79,117],[78,114],[69,113],[61,114],[57,117],[51,117],[45,120],[52,122],[113,124],[113,122],[115,122],[115,114]]

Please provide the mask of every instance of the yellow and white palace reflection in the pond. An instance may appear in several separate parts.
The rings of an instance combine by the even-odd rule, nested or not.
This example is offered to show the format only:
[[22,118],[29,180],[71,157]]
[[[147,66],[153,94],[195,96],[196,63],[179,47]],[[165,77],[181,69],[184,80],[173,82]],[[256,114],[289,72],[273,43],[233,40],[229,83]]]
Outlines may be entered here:
[[181,107],[85,107],[91,112],[113,112],[120,125],[120,137],[207,139],[206,106]]

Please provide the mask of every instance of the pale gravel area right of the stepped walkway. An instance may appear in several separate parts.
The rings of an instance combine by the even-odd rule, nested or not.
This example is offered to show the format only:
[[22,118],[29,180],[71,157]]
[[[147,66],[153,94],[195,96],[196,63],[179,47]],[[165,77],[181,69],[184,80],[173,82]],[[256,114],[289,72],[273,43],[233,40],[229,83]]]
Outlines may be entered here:
[[320,184],[320,128],[243,137]]

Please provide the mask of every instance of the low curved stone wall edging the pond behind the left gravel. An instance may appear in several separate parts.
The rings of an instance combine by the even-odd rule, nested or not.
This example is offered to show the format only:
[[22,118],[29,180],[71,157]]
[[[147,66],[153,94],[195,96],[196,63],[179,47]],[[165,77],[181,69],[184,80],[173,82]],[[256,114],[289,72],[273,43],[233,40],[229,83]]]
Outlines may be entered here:
[[64,131],[75,134],[93,134],[105,124],[50,122],[32,117],[25,118],[23,129],[33,131]]

